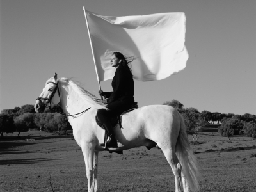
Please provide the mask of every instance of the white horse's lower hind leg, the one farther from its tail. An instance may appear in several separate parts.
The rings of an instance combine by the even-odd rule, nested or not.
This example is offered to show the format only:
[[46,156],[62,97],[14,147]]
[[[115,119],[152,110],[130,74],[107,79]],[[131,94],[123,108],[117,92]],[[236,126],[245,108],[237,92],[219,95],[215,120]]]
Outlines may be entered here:
[[178,157],[175,154],[175,148],[161,148],[164,156],[172,168],[172,172],[175,176],[175,192],[181,192],[181,164]]

